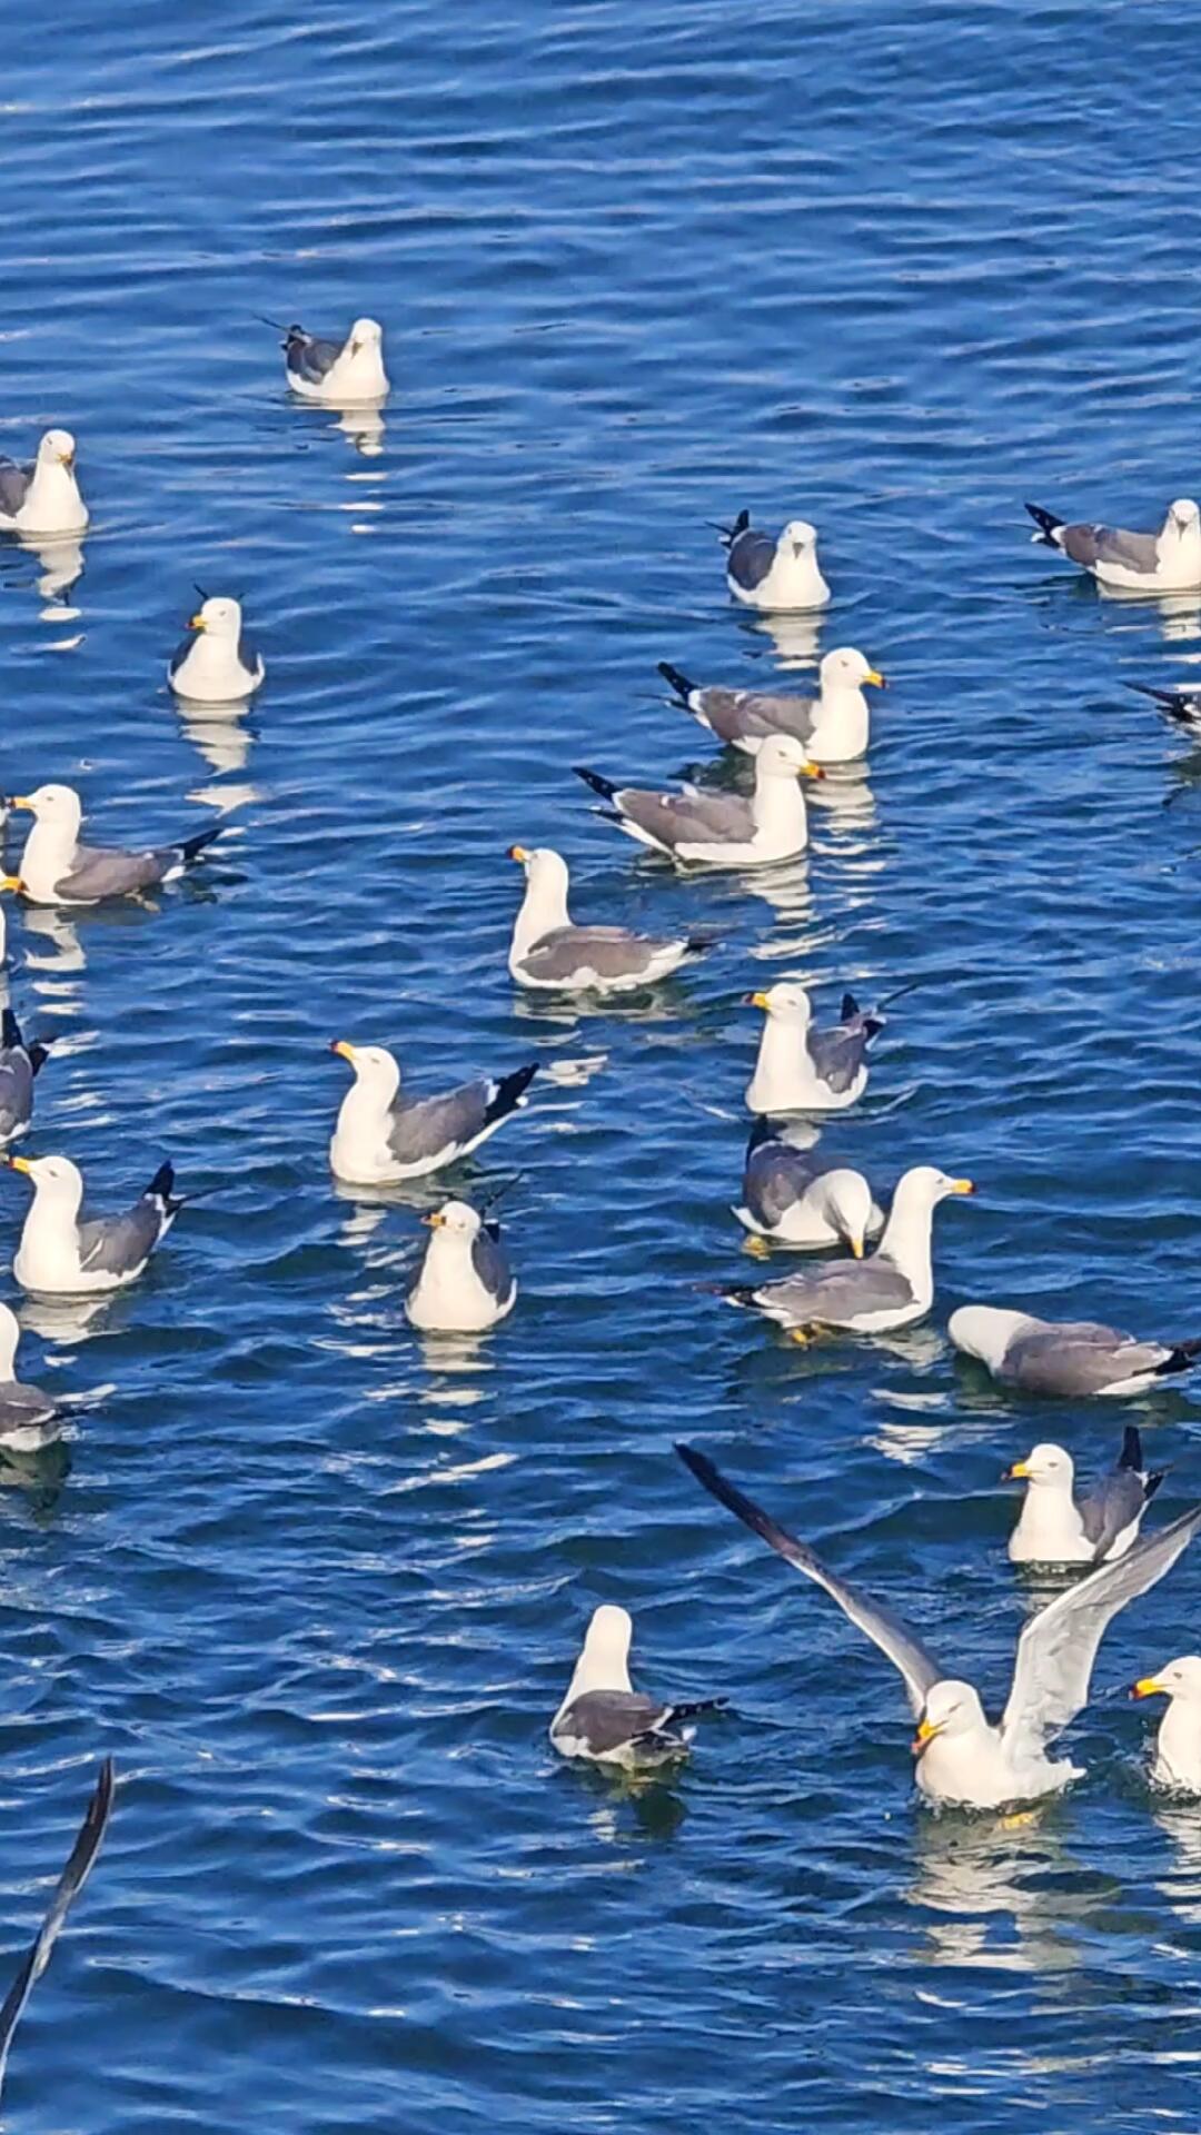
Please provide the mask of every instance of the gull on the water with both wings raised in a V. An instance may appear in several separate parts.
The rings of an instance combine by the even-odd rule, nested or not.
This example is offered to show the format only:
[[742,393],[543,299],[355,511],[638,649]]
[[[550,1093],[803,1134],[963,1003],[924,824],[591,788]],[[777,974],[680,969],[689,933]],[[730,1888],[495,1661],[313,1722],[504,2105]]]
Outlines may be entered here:
[[729,1505],[795,1571],[825,1586],[831,1601],[893,1663],[919,1721],[913,1742],[917,1785],[930,1800],[964,1808],[1032,1802],[1083,1778],[1079,1766],[1051,1761],[1047,1749],[1088,1704],[1096,1648],[1118,1610],[1145,1595],[1201,1531],[1201,1505],[1195,1505],[1118,1563],[1098,1565],[1028,1616],[1017,1638],[1009,1702],[994,1727],[972,1685],[947,1676],[900,1616],[827,1571],[804,1541],[778,1527],[705,1454],[690,1445],[677,1445],[675,1452],[712,1497]]

